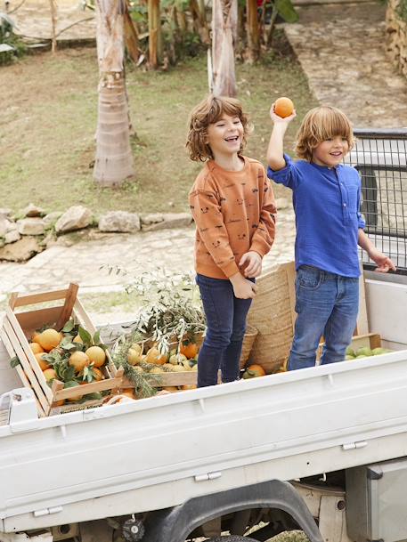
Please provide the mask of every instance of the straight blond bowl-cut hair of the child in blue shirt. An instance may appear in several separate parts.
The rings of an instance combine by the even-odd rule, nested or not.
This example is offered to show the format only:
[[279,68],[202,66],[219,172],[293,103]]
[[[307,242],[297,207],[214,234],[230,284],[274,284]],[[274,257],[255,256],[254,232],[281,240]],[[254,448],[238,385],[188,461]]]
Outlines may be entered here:
[[297,156],[311,162],[313,150],[336,135],[346,138],[349,150],[352,149],[354,130],[345,113],[328,105],[311,109],[306,113],[297,132]]

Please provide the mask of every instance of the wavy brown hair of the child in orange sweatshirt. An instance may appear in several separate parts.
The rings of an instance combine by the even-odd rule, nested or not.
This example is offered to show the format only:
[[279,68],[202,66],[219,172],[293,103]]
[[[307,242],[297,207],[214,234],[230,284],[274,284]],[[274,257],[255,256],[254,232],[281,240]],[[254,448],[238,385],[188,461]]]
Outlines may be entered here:
[[224,114],[231,117],[239,117],[243,125],[243,138],[240,145],[240,152],[246,145],[246,138],[251,131],[248,123],[248,116],[243,112],[239,100],[228,96],[214,96],[209,94],[208,98],[201,101],[191,111],[188,122],[188,135],[185,147],[188,150],[191,160],[205,162],[214,158],[211,148],[208,145],[208,125],[215,124]]

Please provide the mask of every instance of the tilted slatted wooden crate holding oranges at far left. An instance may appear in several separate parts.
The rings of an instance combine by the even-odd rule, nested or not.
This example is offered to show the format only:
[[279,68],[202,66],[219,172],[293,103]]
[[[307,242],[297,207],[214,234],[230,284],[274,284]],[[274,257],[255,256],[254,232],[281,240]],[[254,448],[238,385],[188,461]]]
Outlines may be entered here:
[[[77,297],[77,284],[70,284],[67,289],[49,291],[30,295],[12,294],[9,306],[6,308],[3,328],[0,336],[11,357],[17,356],[20,365],[17,372],[24,386],[30,387],[36,395],[38,413],[41,417],[52,416],[62,412],[77,409],[87,409],[102,404],[102,400],[87,400],[82,403],[71,403],[57,406],[58,401],[75,399],[88,393],[116,390],[122,385],[123,369],[115,368],[110,353],[107,353],[107,363],[103,367],[104,380],[90,384],[63,388],[63,383],[53,381],[53,386],[47,384],[28,340],[38,328],[50,327],[60,330],[72,317],[92,336],[96,328],[86,313],[84,306]],[[38,303],[60,302],[55,306],[37,308],[37,310],[17,311]],[[61,303],[63,302],[63,303]]]

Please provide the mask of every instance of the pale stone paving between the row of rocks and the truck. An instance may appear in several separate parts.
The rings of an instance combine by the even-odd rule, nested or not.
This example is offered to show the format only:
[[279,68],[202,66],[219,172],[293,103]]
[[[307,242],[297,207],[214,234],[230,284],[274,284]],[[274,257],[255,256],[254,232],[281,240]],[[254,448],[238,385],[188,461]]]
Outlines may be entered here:
[[[281,211],[278,216],[278,235],[273,251],[265,257],[264,269],[293,259],[294,214]],[[0,302],[14,291],[58,288],[74,281],[83,295],[120,292],[129,276],[142,271],[153,271],[157,266],[181,273],[193,271],[194,229],[164,230],[138,234],[110,234],[102,239],[81,241],[72,247],[55,245],[35,256],[28,263],[0,263]],[[119,266],[127,271],[109,274],[103,264]],[[101,303],[102,307],[103,303]],[[128,320],[120,308],[111,311],[98,309],[97,322]],[[92,312],[92,311],[91,311]]]

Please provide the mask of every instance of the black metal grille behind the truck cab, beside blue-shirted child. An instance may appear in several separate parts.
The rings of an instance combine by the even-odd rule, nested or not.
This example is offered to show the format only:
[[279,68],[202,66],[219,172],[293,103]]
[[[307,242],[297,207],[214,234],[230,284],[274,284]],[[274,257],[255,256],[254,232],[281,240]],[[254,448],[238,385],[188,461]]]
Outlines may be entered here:
[[[407,129],[355,130],[356,144],[346,157],[362,176],[366,233],[389,255],[397,272],[407,274]],[[364,269],[374,269],[362,252]]]

